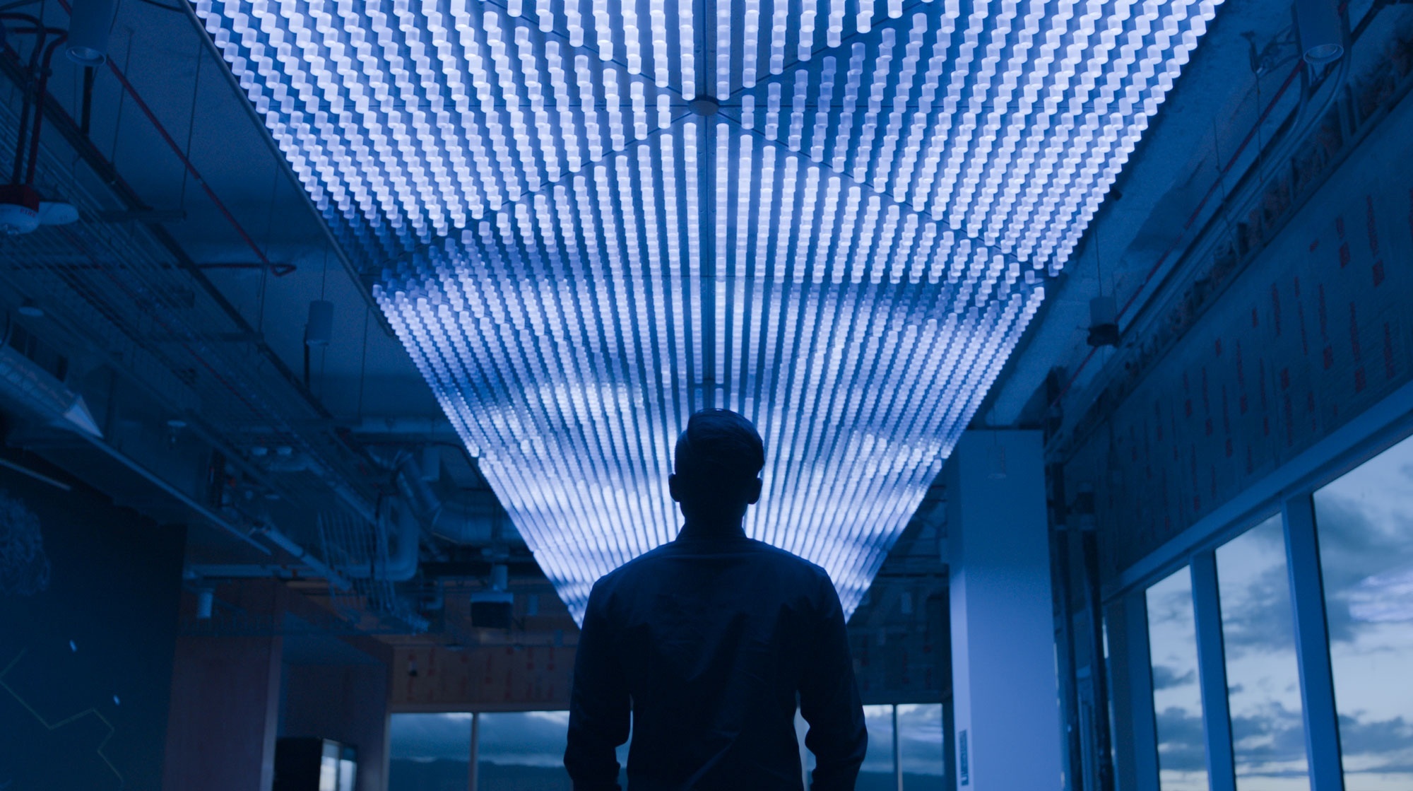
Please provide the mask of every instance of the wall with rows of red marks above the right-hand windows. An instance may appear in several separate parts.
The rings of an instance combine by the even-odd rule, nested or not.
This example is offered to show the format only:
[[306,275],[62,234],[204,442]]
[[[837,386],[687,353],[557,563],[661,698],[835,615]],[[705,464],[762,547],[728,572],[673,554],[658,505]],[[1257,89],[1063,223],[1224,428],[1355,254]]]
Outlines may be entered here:
[[1409,129],[1405,97],[1088,431],[1106,576],[1413,379]]

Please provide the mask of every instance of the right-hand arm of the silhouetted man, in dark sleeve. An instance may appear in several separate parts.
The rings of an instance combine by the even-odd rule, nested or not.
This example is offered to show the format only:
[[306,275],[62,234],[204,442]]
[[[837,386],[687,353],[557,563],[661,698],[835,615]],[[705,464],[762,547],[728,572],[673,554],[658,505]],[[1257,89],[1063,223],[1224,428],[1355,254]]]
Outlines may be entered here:
[[814,753],[814,791],[852,790],[869,746],[863,705],[853,682],[853,658],[844,607],[828,578],[815,600],[821,617],[800,678],[800,715],[810,723],[804,744]]

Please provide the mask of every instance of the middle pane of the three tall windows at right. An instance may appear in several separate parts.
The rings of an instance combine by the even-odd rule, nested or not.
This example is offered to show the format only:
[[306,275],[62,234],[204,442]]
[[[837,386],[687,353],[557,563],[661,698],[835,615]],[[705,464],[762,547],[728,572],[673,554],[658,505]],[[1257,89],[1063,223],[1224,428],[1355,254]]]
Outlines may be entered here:
[[1280,516],[1217,549],[1238,791],[1308,791]]

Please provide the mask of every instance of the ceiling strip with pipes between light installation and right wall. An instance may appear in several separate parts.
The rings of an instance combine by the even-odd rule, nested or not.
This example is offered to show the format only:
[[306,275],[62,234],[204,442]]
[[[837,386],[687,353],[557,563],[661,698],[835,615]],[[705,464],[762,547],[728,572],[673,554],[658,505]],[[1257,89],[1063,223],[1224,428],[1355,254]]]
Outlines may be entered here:
[[[1060,421],[1064,438],[1115,379],[1135,376],[1153,336],[1167,331],[1195,281],[1207,277],[1214,240],[1248,222],[1265,185],[1413,20],[1406,4],[1342,4],[1345,56],[1311,66],[1289,3],[1231,3],[1159,113],[1132,165],[1072,263],[1047,297],[1036,331],[983,405],[989,425]],[[1111,297],[1118,347],[1091,346],[1089,301]],[[1047,381],[1047,377],[1051,377]],[[1048,390],[1047,390],[1048,388]]]

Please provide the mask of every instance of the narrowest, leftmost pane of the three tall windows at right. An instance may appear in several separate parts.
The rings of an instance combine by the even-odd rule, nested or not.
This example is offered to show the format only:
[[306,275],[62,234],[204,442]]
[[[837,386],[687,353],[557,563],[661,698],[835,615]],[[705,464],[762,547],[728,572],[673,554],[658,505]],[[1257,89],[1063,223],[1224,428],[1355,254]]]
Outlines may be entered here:
[[1147,610],[1159,784],[1163,791],[1205,791],[1207,743],[1187,566],[1147,589]]

